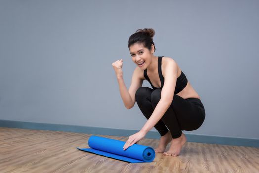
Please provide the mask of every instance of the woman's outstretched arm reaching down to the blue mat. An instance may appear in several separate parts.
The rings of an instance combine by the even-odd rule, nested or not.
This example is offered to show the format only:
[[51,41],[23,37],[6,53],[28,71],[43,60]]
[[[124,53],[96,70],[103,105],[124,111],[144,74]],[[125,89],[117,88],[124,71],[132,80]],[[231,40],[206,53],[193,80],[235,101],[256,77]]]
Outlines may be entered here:
[[129,136],[129,139],[123,146],[124,150],[126,150],[129,146],[132,146],[139,140],[143,139],[147,132],[151,130],[163,117],[163,115],[171,105],[177,81],[177,64],[173,59],[167,62],[165,66],[164,76],[165,82],[161,90],[161,98],[156,105],[156,108],[154,109],[152,115],[147,120],[142,129],[139,132]]

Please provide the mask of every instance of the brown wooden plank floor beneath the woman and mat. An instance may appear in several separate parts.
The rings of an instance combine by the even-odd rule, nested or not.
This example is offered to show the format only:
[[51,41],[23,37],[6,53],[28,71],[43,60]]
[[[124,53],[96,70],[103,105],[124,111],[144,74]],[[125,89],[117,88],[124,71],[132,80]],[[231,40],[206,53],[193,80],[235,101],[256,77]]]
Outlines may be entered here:
[[[130,164],[76,149],[87,148],[90,136],[0,127],[0,173],[259,173],[259,148],[187,142],[178,157]],[[155,148],[158,140],[138,144]]]

